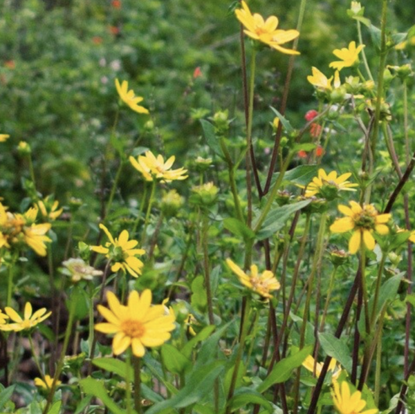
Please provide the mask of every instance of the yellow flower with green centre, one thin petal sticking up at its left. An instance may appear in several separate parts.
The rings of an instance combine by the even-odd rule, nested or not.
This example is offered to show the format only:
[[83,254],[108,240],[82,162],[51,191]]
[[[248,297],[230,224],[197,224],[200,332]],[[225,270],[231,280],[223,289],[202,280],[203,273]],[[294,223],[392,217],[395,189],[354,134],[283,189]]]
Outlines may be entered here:
[[136,256],[145,254],[145,250],[135,248],[138,241],[129,240],[127,230],[122,230],[118,238],[113,238],[103,224],[100,224],[100,229],[107,234],[109,242],[105,243],[105,246],[91,246],[91,250],[105,254],[105,257],[114,262],[111,266],[113,272],[118,272],[121,269],[124,272],[129,272],[131,276],[138,277],[141,274],[143,263]]

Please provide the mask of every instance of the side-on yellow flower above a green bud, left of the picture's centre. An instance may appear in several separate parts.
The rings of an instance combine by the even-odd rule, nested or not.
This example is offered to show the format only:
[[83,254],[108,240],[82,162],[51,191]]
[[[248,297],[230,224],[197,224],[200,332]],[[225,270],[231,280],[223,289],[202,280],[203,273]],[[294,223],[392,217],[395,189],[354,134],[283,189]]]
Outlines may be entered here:
[[147,151],[144,156],[138,156],[137,159],[130,156],[129,160],[147,181],[156,179],[161,182],[172,182],[173,180],[185,180],[188,177],[185,175],[187,169],[183,167],[171,169],[176,160],[175,156],[171,156],[165,162],[163,156],[158,155],[156,158],[151,151]]

